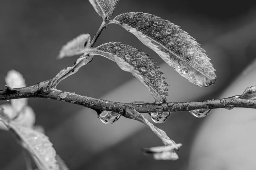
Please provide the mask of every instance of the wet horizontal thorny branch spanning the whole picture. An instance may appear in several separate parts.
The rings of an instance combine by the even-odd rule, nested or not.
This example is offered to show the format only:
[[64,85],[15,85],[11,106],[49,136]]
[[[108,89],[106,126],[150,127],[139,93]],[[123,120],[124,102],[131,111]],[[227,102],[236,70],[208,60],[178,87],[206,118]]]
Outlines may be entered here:
[[18,98],[47,98],[60,100],[63,102],[69,102],[81,106],[85,106],[98,110],[109,110],[118,112],[121,115],[125,113],[125,106],[133,107],[139,113],[148,112],[161,112],[161,111],[189,111],[195,109],[215,109],[215,108],[228,108],[232,107],[245,107],[256,108],[256,103],[252,100],[241,99],[241,95],[206,101],[196,102],[168,102],[162,104],[155,103],[120,103],[112,102],[108,100],[95,99],[92,97],[82,96],[79,94],[64,92],[57,89],[50,89],[47,92],[43,92],[43,89],[47,86],[49,80],[40,82],[34,86],[16,88],[16,91],[1,90],[0,100],[10,100]]

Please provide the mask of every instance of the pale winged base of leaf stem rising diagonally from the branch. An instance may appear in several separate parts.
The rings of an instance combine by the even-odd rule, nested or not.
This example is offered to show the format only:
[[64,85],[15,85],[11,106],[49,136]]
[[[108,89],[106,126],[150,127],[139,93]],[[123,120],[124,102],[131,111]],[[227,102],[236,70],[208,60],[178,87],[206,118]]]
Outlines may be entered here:
[[90,63],[92,60],[93,60],[93,56],[89,56],[89,55],[78,58],[71,67],[66,67],[62,69],[54,78],[52,78],[52,80],[49,81],[47,85],[47,89],[45,91],[48,91],[51,88],[56,88],[56,86],[61,80],[67,78],[68,76],[71,76],[72,74],[75,74],[80,67]]

